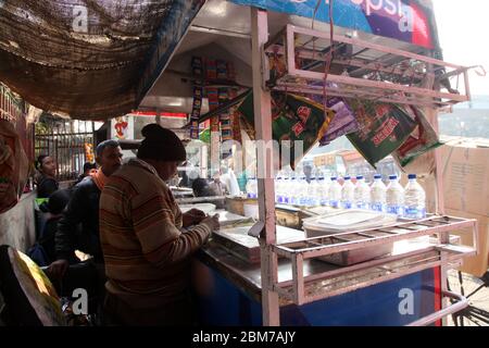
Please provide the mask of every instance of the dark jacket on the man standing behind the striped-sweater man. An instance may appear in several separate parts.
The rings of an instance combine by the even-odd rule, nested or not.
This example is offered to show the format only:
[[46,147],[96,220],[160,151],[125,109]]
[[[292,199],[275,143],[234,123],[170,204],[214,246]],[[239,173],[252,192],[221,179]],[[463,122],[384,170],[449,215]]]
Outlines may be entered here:
[[72,260],[75,250],[103,262],[99,238],[100,189],[92,178],[86,177],[72,191],[63,217],[58,222],[55,236],[57,258]]

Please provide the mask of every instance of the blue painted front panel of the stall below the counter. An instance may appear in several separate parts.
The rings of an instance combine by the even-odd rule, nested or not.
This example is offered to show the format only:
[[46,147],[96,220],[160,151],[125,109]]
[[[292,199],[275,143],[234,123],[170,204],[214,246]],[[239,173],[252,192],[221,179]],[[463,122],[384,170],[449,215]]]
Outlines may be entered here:
[[[251,299],[215,270],[208,274],[211,279],[205,283],[212,284],[212,290],[199,298],[200,319],[203,324],[262,324],[261,303]],[[405,325],[435,311],[434,286],[434,270],[427,270],[301,307],[283,307],[280,323],[287,326]],[[403,300],[400,298],[402,289],[409,289],[414,295],[412,314],[401,314],[399,311]]]

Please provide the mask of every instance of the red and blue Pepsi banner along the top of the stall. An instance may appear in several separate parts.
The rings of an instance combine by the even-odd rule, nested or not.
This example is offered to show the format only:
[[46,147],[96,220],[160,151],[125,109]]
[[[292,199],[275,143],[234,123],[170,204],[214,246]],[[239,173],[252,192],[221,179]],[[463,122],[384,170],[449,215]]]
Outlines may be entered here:
[[[329,23],[329,0],[230,0],[237,4],[296,14]],[[331,0],[333,21],[340,27],[437,49],[432,10],[418,0]]]

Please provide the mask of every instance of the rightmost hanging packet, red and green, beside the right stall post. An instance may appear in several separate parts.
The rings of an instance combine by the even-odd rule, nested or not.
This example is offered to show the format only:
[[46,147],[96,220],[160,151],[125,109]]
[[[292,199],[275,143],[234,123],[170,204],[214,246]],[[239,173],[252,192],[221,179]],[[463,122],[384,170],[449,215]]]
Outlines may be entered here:
[[443,145],[440,142],[437,133],[419,109],[406,107],[404,110],[412,119],[414,119],[417,126],[408,137],[405,142],[392,153],[392,157],[402,167],[413,162],[419,156]]

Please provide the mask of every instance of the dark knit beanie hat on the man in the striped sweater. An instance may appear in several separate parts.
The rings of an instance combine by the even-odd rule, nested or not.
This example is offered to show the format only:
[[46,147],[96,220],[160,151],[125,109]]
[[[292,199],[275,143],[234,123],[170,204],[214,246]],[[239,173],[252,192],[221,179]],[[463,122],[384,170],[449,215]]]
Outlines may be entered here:
[[139,159],[156,161],[185,161],[187,151],[178,136],[159,124],[152,123],[141,130],[145,140],[138,150]]

